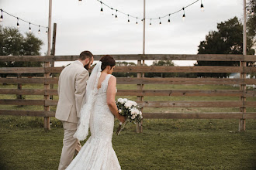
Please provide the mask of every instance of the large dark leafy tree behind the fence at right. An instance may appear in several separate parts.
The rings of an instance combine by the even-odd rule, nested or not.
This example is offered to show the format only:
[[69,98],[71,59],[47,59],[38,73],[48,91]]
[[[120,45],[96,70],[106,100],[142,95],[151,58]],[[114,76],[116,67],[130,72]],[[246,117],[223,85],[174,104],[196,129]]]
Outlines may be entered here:
[[[217,24],[218,31],[211,31],[200,42],[199,54],[243,54],[243,25],[237,17]],[[254,55],[253,41],[247,37],[247,54]],[[195,66],[239,66],[239,62],[198,61]],[[197,76],[223,77],[227,73],[198,73]]]

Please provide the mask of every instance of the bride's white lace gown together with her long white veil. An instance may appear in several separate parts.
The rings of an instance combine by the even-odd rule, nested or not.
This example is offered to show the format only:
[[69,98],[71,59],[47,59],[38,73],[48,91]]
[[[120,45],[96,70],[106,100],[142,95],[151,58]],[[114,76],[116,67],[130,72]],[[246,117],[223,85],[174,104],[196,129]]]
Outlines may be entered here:
[[[91,136],[85,145],[78,152],[71,164],[66,168],[69,169],[90,169],[90,170],[111,170],[121,169],[116,153],[112,148],[112,134],[114,128],[114,115],[109,110],[106,102],[106,91],[110,74],[102,81],[101,87],[97,89],[100,76],[101,62],[92,70],[86,87],[88,95],[86,104],[81,108],[80,124],[74,134],[75,138],[84,140],[88,135],[88,126]],[[90,82],[90,79],[92,82]],[[91,83],[91,84],[90,84]],[[92,86],[93,85],[93,86]],[[91,87],[90,87],[91,86]],[[93,90],[92,90],[93,89]],[[89,91],[92,90],[92,91]],[[89,119],[87,121],[86,119]]]

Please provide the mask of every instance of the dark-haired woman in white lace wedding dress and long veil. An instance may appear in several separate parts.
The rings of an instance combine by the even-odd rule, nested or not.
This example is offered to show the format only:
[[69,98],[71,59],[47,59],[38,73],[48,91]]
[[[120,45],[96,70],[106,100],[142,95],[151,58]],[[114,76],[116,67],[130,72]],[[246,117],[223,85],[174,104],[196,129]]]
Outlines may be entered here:
[[85,105],[74,138],[83,141],[90,128],[91,136],[73,159],[68,169],[121,169],[112,148],[114,116],[124,122],[116,107],[116,77],[112,76],[116,62],[112,56],[102,56],[87,81]]

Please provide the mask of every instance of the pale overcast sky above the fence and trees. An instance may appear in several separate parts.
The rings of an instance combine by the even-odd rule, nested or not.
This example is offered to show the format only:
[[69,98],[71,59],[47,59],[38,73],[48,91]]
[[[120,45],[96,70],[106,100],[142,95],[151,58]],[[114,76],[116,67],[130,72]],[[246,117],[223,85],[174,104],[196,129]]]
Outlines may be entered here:
[[[121,12],[143,18],[144,0],[102,0]],[[146,18],[158,18],[176,12],[195,0],[146,0]],[[217,30],[217,23],[225,22],[237,16],[243,18],[243,0],[202,0],[185,8],[183,12],[168,17],[146,20],[146,54],[196,54],[200,41],[205,40],[210,31]],[[0,0],[0,8],[12,15],[40,26],[48,25],[49,1],[47,0]],[[56,56],[79,55],[89,50],[93,54],[142,54],[143,22],[117,12],[118,19],[112,16],[112,10],[96,0],[53,0],[52,26],[57,23]],[[114,15],[116,12],[114,12]],[[3,13],[2,26],[16,27],[17,19]],[[41,55],[47,53],[46,29],[31,26],[33,33],[44,44]],[[29,31],[29,24],[19,21],[19,30],[24,34]],[[150,61],[146,64],[150,65]],[[174,61],[177,66],[192,66],[195,61]],[[56,66],[67,63],[60,62]]]

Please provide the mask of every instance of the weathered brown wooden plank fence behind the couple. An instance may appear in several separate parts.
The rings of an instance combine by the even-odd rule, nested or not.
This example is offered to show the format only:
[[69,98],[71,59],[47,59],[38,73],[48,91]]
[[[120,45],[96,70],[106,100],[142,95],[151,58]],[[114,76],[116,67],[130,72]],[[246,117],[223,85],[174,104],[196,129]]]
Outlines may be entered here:
[[[246,66],[247,62],[256,62],[256,56],[251,55],[113,55],[116,60],[137,60],[137,66],[116,66],[115,72],[137,73],[136,78],[117,78],[119,84],[137,84],[137,90],[118,90],[118,96],[137,96],[137,103],[141,107],[236,107],[237,112],[198,112],[198,113],[145,113],[144,118],[152,119],[239,119],[240,131],[245,130],[245,119],[256,118],[256,112],[246,112],[247,107],[256,107],[255,90],[247,90],[246,85],[256,84],[256,79],[246,78],[246,73],[256,73],[256,68]],[[95,55],[95,60],[100,56]],[[0,115],[20,115],[44,117],[44,128],[50,129],[50,118],[54,111],[50,106],[56,106],[57,100],[50,100],[50,95],[57,95],[57,90],[50,89],[50,84],[57,84],[58,78],[50,78],[50,73],[61,73],[64,67],[50,67],[48,63],[54,61],[74,61],[78,56],[0,56],[1,62],[25,61],[43,62],[44,67],[2,67],[0,73],[44,73],[41,78],[0,78],[0,83],[8,84],[43,84],[44,89],[0,89],[0,94],[43,95],[43,100],[9,100],[2,99],[2,105],[40,105],[44,110],[0,110]],[[240,66],[144,66],[143,60],[204,60],[204,61],[239,61]],[[240,73],[240,78],[147,78],[144,73]],[[144,90],[144,84],[215,84],[239,85],[240,90]],[[144,97],[240,97],[240,100],[215,101],[146,101]]]

